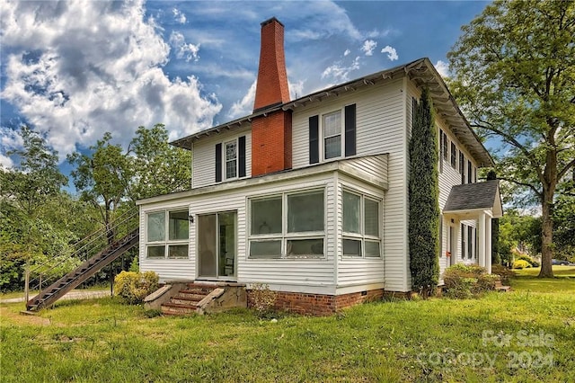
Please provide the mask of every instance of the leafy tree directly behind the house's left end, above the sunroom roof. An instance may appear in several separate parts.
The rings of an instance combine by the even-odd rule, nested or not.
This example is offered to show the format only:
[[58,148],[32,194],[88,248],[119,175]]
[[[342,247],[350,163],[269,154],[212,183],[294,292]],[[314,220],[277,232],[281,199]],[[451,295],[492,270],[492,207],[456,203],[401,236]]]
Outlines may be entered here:
[[133,177],[128,184],[132,200],[190,189],[191,153],[168,144],[164,125],[139,127],[128,147]]

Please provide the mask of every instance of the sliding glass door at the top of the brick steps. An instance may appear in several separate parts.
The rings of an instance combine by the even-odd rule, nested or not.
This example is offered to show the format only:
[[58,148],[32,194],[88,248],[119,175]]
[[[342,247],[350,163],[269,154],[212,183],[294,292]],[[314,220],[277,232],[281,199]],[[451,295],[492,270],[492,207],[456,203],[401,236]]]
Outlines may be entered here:
[[236,221],[235,211],[198,217],[200,278],[235,278]]

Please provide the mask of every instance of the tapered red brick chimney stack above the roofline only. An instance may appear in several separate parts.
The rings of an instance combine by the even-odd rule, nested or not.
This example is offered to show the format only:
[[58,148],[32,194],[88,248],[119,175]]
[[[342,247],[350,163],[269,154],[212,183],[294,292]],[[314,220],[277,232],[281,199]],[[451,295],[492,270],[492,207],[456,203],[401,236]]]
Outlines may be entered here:
[[289,102],[284,24],[272,17],[261,22],[260,68],[253,110],[257,111],[280,102]]

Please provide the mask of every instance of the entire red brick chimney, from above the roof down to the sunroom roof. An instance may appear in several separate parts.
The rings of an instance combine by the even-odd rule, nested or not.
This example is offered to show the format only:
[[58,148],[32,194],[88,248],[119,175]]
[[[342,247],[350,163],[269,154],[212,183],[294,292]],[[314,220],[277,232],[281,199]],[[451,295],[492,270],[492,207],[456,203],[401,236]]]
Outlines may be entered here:
[[[284,25],[261,23],[260,67],[253,111],[289,102]],[[291,111],[272,111],[252,120],[252,176],[291,168]]]

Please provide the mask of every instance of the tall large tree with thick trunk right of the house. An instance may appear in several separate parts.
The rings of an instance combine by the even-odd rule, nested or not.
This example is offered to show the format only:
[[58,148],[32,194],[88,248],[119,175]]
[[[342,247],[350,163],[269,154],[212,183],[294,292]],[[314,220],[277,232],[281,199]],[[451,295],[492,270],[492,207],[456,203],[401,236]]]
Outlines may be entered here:
[[575,3],[498,0],[462,30],[450,88],[478,134],[500,138],[500,180],[540,204],[539,277],[553,277],[553,204],[575,166]]

